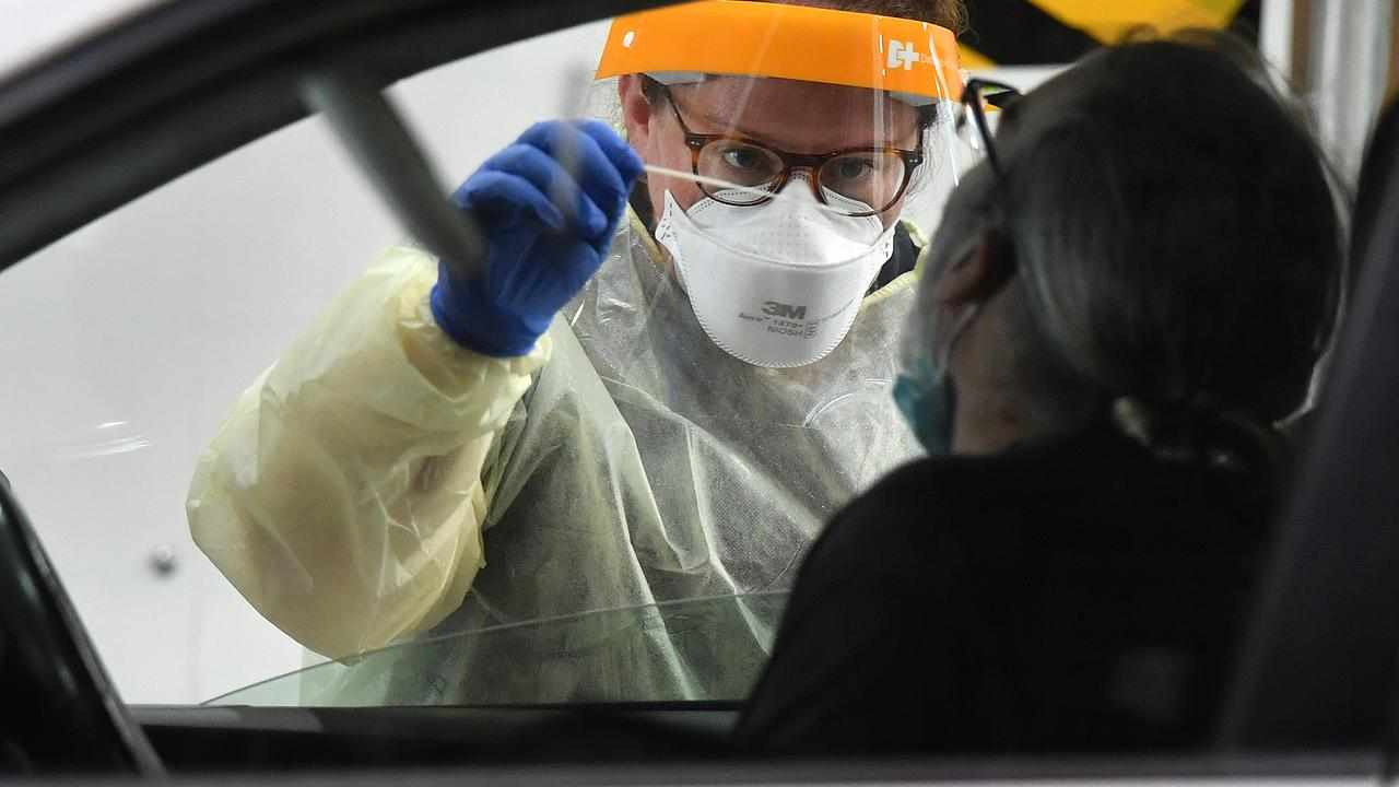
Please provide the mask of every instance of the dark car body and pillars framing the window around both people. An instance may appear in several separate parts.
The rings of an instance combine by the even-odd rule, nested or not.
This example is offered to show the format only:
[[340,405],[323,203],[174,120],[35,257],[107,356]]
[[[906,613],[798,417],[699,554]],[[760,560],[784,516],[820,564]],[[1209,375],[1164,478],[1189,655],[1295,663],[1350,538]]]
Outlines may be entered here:
[[[313,112],[406,227],[471,255],[381,90],[471,52],[660,3],[201,0],[157,7],[0,95],[0,270],[88,220]],[[490,24],[483,18],[490,15]],[[17,90],[15,85],[24,90]],[[1386,112],[1393,118],[1395,109]],[[1375,777],[1399,751],[1399,158],[1367,157],[1363,259],[1212,751],[1170,758],[769,762],[737,703],[129,707],[0,473],[0,773],[456,767],[497,781]],[[41,206],[41,207],[34,207]],[[22,370],[11,379],[22,382]],[[81,493],[81,490],[78,490]],[[679,770],[684,765],[686,770]],[[561,770],[567,766],[567,770]],[[455,774],[455,776],[453,776]]]

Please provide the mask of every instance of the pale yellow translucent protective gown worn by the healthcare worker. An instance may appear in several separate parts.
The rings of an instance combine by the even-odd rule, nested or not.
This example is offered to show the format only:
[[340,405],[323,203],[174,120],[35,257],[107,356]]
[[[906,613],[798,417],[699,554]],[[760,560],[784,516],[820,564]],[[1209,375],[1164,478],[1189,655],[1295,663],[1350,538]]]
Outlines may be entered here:
[[[888,392],[916,274],[867,297],[824,360],[772,370],[716,347],[660,259],[632,216],[534,350],[499,360],[436,329],[435,259],[390,249],[238,401],[194,473],[194,541],[329,657],[788,587],[823,524],[919,451]],[[308,699],[737,699],[776,613],[457,637]]]

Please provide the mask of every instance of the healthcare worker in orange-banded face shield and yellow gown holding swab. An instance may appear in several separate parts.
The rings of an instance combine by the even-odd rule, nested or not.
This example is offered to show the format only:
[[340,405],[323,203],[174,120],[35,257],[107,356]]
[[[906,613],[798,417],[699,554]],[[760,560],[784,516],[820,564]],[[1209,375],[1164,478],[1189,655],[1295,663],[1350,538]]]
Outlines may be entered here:
[[[786,588],[916,452],[890,398],[912,206],[961,155],[933,24],[958,7],[922,6],[616,20],[597,78],[627,143],[548,122],[487,160],[455,195],[488,241],[478,279],[388,251],[235,405],[196,469],[196,542],[336,658]],[[406,648],[319,702],[737,699],[775,613],[715,609]]]

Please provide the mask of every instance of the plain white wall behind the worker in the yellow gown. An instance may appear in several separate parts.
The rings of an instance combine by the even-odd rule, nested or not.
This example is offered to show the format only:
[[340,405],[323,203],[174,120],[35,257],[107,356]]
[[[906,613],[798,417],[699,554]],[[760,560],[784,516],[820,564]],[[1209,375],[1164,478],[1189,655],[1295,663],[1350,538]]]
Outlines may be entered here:
[[[0,0],[0,71],[140,0]],[[21,32],[22,31],[22,32]],[[593,24],[406,81],[455,185],[579,111]],[[1030,87],[1045,71],[1010,76]],[[0,469],[127,702],[200,702],[302,665],[189,539],[194,461],[236,394],[400,228],[319,119],[238,150],[0,274]],[[164,562],[172,569],[157,570]]]

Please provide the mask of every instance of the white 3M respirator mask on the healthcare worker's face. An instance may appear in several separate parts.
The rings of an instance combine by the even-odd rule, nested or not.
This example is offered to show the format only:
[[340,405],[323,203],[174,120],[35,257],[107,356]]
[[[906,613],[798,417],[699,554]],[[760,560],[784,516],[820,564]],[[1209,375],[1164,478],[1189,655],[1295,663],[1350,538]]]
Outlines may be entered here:
[[[842,216],[804,182],[758,206],[705,197],[688,211],[672,193],[656,224],[701,328],[730,356],[760,367],[797,367],[834,350],[894,253],[894,227]],[[839,197],[831,197],[839,199]],[[869,210],[855,200],[835,206]]]

